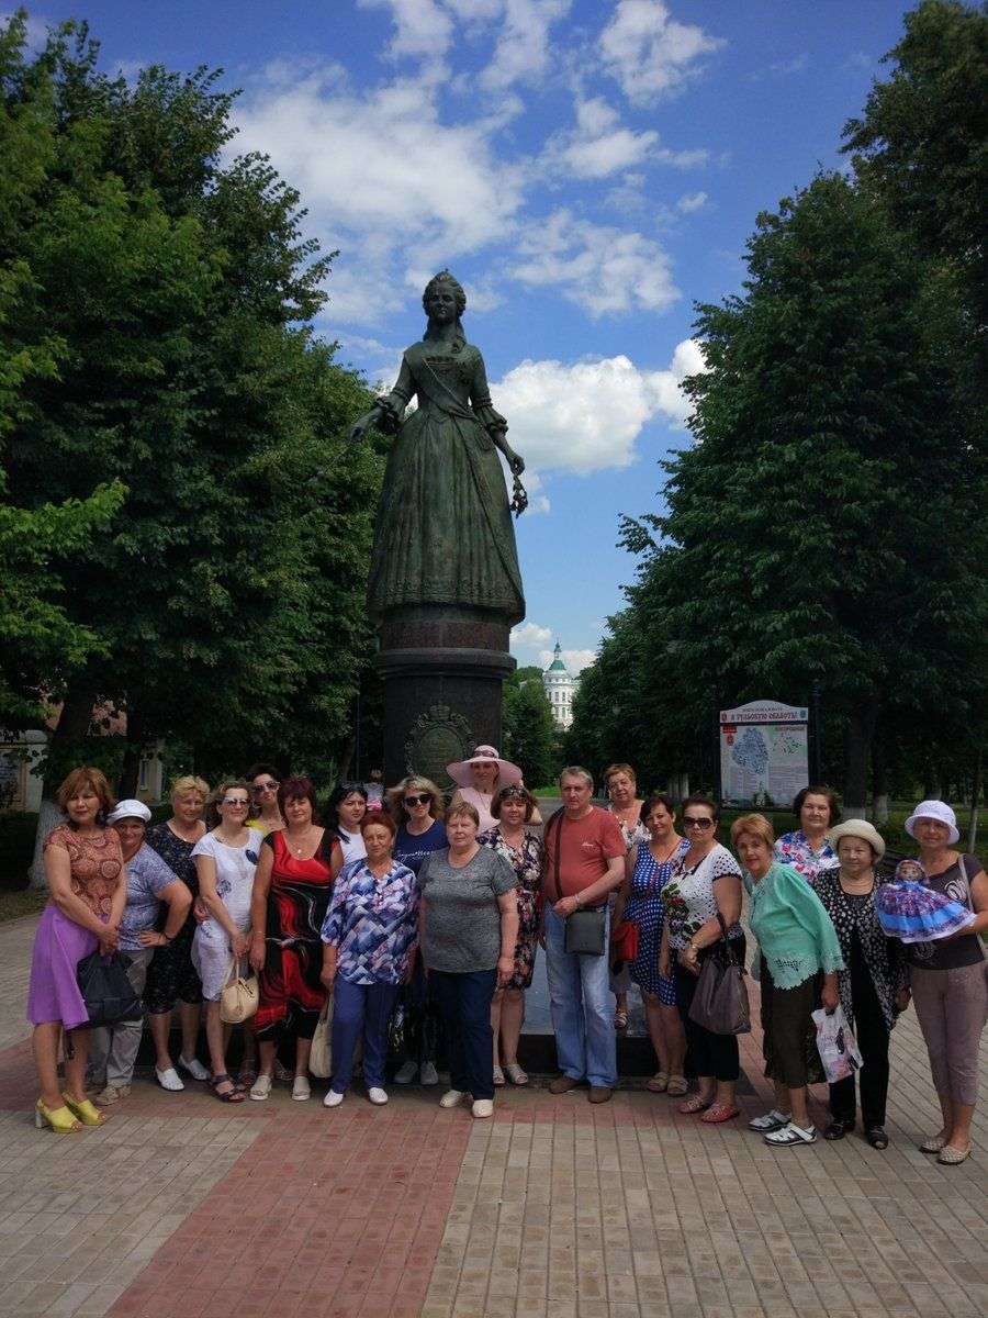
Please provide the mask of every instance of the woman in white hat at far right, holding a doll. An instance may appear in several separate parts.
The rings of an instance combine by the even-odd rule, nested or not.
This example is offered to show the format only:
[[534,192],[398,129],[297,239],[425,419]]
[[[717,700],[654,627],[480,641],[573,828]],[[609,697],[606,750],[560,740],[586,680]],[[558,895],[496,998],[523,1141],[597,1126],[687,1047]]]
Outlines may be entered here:
[[919,845],[929,887],[970,905],[976,916],[964,933],[910,942],[906,952],[916,1015],[943,1112],[939,1133],[919,1148],[952,1166],[971,1152],[977,1053],[988,1019],[988,963],[981,944],[988,929],[988,875],[976,855],[954,850],[960,838],[958,821],[943,801],[919,801],[905,829]]

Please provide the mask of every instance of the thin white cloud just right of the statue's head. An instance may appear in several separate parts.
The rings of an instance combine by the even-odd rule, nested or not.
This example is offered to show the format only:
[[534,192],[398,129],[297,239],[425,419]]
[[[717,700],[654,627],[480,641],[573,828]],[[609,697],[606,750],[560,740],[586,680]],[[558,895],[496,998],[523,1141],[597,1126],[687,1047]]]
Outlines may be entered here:
[[591,316],[664,311],[680,297],[669,258],[652,239],[555,211],[530,221],[508,273],[532,287],[556,286]]

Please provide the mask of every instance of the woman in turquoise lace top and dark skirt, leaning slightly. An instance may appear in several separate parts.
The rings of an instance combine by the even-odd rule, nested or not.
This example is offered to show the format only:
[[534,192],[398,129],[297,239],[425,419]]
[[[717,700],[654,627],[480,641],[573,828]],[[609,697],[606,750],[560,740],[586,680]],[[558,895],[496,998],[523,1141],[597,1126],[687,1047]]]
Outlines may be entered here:
[[748,1122],[775,1147],[813,1144],[808,1085],[823,1079],[811,1014],[838,1002],[840,944],[823,903],[802,875],[775,858],[775,834],[764,815],[742,815],[731,842],[754,879],[748,920],[761,949],[761,1029],[765,1075],[776,1106]]

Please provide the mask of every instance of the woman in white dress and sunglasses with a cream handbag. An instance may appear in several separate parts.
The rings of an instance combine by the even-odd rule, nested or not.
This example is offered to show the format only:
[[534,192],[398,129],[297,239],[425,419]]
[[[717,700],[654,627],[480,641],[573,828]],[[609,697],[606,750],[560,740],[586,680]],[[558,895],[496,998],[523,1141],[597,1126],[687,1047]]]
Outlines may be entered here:
[[216,821],[192,849],[199,896],[208,911],[192,940],[192,965],[203,982],[211,1086],[223,1103],[241,1103],[244,1090],[227,1074],[227,1037],[220,994],[233,965],[250,949],[250,898],[263,834],[248,828],[250,787],[244,779],[220,783],[212,803]]

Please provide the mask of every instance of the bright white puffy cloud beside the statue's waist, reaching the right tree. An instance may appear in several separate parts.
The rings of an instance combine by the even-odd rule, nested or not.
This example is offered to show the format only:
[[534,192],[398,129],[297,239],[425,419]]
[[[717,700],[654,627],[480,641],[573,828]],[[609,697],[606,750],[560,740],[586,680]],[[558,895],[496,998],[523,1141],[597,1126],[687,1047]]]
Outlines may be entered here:
[[656,418],[682,426],[690,411],[680,385],[703,370],[692,339],[665,370],[640,370],[624,356],[598,361],[523,361],[493,385],[511,443],[537,472],[578,474],[630,467],[642,428]]

